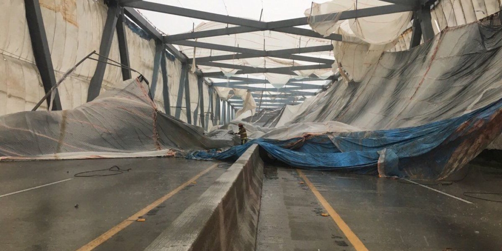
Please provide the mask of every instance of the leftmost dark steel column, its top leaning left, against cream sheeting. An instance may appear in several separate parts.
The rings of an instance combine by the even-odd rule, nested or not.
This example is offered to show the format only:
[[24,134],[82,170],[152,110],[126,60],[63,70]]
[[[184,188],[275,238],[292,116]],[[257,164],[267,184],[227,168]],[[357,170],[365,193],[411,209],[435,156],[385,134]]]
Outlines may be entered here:
[[[54,75],[54,67],[52,65],[51,52],[49,51],[49,43],[47,42],[47,34],[45,33],[39,0],[25,0],[25,11],[33,56],[35,57],[35,63],[37,64],[45,93],[47,93],[52,86],[56,85],[56,76]],[[59,93],[56,91],[53,95],[52,110],[61,110]],[[48,107],[50,107],[50,102],[50,98],[47,98]]]

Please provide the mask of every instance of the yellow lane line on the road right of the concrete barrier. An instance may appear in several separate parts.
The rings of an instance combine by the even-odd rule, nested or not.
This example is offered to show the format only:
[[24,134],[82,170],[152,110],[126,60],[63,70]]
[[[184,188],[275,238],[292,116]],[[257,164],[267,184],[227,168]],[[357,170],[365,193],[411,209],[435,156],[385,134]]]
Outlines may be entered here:
[[310,182],[310,180],[307,178],[307,176],[305,176],[305,174],[303,174],[303,172],[299,169],[297,169],[296,171],[298,172],[300,177],[302,177],[302,179],[305,181],[305,183],[310,188],[310,190],[315,195],[315,197],[317,197],[319,202],[321,202],[322,206],[326,209],[326,211],[328,211],[329,216],[331,216],[333,221],[335,221],[336,225],[338,225],[338,227],[342,230],[343,234],[345,234],[345,236],[347,236],[347,239],[350,241],[350,243],[352,243],[355,250],[356,251],[368,251],[366,246],[364,246],[364,244],[357,237],[357,235],[355,235],[355,233],[352,232],[352,230],[350,230],[350,227],[348,227],[347,223],[345,223],[345,221],[343,221],[343,219],[340,217],[340,215],[338,215],[338,213],[335,211],[335,209],[333,209],[333,207],[331,207],[331,205],[328,203],[328,201],[326,201],[326,199],[324,199],[324,197],[321,195],[321,193],[319,193],[319,191],[317,191],[317,188],[312,184],[312,182]]

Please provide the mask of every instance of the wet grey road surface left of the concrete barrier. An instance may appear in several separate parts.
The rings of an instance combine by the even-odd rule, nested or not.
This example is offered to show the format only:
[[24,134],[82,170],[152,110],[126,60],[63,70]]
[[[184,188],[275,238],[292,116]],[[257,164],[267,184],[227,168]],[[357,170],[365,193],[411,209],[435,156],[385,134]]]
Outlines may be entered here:
[[[90,250],[86,244],[121,223],[93,250],[143,250],[225,169],[187,181],[216,165],[181,158],[0,162],[0,250]],[[74,177],[112,166],[131,170]],[[128,219],[149,205],[145,221]]]

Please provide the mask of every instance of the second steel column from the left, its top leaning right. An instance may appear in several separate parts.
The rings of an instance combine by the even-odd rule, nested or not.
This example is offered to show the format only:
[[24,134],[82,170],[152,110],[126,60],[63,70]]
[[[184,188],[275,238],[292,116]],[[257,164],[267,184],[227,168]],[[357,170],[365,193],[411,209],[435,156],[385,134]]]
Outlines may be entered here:
[[106,23],[104,24],[103,35],[101,37],[101,44],[99,45],[99,62],[97,62],[96,70],[91,78],[89,89],[87,91],[87,102],[94,100],[99,95],[101,85],[103,84],[104,72],[106,71],[105,57],[110,54],[111,42],[113,41],[113,34],[119,15],[119,8],[115,1],[108,3],[108,13],[106,14]]

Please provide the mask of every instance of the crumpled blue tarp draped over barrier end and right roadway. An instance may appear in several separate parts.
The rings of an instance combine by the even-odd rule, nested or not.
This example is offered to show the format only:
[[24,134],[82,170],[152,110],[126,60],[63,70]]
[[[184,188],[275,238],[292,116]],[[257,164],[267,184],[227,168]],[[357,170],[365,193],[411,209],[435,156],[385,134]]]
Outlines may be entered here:
[[[469,138],[479,137],[485,130],[483,126],[496,122],[492,120],[495,115],[500,115],[501,107],[502,100],[498,100],[462,116],[418,127],[305,135],[284,141],[256,139],[224,152],[192,152],[187,158],[236,160],[248,147],[258,144],[270,156],[297,168],[377,174],[380,159],[383,164],[389,162],[395,166],[397,162],[400,163],[398,172],[388,169],[380,173],[383,176],[419,173],[425,178],[437,178],[460,144]],[[384,149],[392,151],[382,158],[381,151]]]

